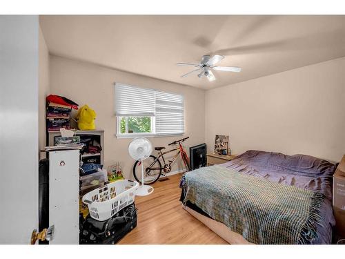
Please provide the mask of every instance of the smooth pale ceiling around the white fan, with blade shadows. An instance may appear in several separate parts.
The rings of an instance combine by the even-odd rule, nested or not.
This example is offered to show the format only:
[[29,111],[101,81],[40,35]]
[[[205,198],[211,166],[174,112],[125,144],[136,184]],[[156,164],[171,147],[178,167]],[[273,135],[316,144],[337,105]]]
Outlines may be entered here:
[[[199,88],[215,88],[345,56],[345,15],[43,15],[52,55]],[[225,55],[216,81],[181,75],[202,55]]]

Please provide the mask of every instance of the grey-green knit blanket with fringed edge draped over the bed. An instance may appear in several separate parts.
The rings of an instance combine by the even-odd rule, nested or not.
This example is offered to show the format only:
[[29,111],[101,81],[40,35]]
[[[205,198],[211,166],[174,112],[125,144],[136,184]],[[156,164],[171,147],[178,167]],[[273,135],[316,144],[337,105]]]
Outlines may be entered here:
[[322,193],[208,166],[184,175],[184,204],[197,205],[255,244],[309,244]]

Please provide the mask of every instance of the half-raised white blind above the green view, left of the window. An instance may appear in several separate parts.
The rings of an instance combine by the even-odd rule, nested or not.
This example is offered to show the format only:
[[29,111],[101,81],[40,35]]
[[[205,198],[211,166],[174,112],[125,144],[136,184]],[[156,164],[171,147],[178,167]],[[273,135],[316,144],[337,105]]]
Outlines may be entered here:
[[116,116],[155,116],[155,90],[115,84]]

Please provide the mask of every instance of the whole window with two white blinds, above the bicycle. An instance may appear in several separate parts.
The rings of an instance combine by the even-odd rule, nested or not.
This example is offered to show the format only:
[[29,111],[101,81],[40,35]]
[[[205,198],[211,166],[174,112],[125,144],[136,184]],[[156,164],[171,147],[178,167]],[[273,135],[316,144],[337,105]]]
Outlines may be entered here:
[[115,114],[117,137],[184,133],[182,95],[115,84]]

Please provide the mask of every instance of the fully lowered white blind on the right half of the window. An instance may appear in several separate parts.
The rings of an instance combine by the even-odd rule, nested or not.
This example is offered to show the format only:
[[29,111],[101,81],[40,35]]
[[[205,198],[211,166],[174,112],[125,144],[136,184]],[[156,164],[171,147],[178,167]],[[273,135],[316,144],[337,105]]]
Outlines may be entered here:
[[172,93],[155,92],[156,135],[184,133],[184,97]]

